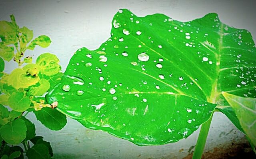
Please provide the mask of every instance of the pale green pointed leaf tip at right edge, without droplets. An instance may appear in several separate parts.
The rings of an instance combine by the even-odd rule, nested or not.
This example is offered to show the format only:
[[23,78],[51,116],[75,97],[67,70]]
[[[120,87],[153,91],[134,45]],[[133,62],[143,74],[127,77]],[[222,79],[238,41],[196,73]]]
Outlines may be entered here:
[[244,132],[256,146],[256,98],[244,98],[226,92],[222,94],[236,112]]

